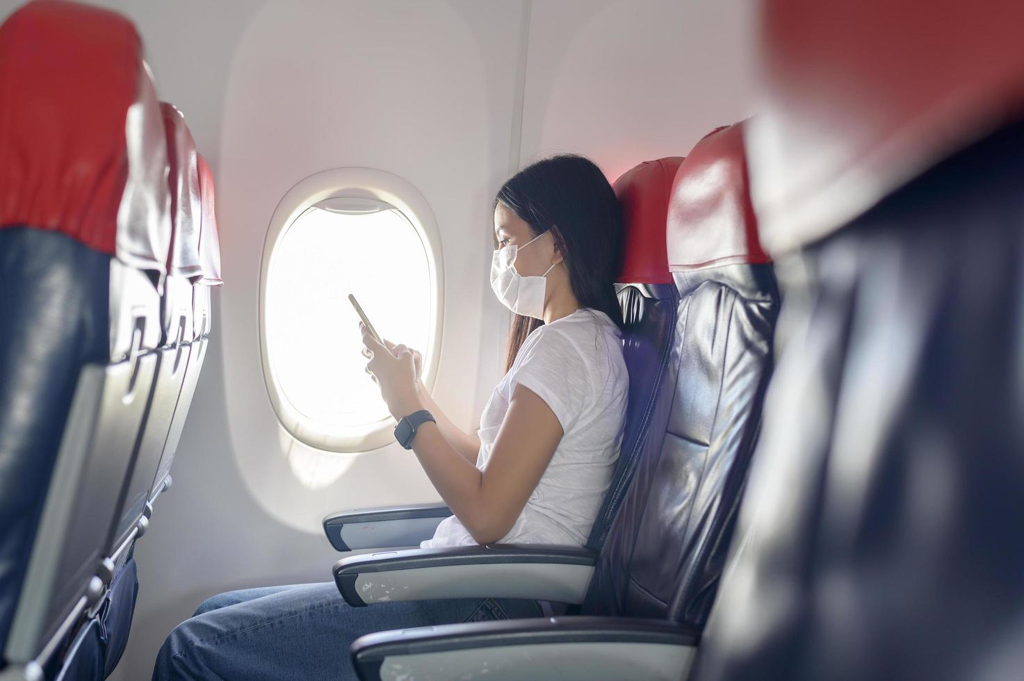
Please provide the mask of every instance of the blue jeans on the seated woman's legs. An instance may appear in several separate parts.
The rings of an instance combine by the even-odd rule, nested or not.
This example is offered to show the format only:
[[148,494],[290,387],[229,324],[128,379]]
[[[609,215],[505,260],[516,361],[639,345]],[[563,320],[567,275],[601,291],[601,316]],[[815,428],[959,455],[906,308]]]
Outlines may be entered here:
[[164,641],[163,679],[355,679],[348,646],[390,629],[541,616],[525,600],[433,600],[351,607],[333,582],[244,589],[208,599]]

